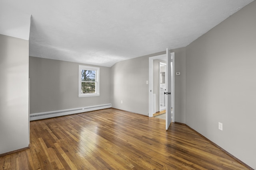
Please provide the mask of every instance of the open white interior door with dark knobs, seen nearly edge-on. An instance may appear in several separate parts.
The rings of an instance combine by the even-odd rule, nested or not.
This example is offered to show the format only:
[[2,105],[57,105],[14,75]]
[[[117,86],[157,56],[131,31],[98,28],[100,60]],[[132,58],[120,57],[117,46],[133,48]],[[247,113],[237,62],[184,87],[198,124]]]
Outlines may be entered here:
[[171,124],[171,119],[172,119],[172,97],[171,97],[171,92],[172,92],[172,55],[170,54],[169,49],[166,49],[166,93],[167,95],[166,98],[166,130],[168,130],[170,124]]

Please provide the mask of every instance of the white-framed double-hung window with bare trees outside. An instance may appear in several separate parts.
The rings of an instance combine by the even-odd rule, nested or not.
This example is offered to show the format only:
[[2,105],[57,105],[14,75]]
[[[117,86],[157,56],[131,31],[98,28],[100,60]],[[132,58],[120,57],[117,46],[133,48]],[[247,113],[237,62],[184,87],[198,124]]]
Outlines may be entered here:
[[79,97],[100,96],[100,68],[79,65]]

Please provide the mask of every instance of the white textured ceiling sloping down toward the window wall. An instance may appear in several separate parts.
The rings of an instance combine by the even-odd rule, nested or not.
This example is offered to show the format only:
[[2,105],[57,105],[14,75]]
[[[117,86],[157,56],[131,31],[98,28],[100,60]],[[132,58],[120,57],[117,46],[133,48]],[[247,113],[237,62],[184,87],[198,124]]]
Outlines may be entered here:
[[30,56],[112,66],[186,47],[252,1],[1,0],[0,10],[32,15]]

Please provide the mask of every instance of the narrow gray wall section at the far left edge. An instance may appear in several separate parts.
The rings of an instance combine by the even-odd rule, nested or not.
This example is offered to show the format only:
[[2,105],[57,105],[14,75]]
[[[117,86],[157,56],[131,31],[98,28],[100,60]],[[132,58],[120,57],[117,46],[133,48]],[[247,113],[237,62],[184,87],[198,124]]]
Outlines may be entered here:
[[29,145],[28,41],[0,34],[0,154]]

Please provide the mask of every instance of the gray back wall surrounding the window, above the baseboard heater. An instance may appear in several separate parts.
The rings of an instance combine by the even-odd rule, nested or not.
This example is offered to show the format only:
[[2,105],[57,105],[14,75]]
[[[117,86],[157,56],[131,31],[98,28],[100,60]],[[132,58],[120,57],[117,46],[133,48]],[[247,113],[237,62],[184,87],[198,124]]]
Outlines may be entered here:
[[109,104],[110,68],[97,66],[100,96],[78,98],[78,65],[88,64],[29,57],[30,113]]

